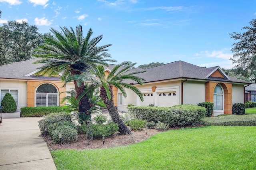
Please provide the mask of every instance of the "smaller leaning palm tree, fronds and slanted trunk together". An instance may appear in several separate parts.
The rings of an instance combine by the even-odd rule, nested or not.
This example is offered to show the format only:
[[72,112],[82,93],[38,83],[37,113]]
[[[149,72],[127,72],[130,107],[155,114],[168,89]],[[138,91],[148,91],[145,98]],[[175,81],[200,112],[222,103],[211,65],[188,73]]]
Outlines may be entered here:
[[[140,85],[142,85],[142,79],[141,77],[135,75],[139,73],[143,73],[145,71],[130,71],[129,69],[133,67],[136,63],[131,63],[124,61],[123,63],[120,63],[116,65],[112,71],[108,74],[106,77],[104,66],[98,65],[96,68],[96,71],[91,71],[90,75],[82,75],[82,78],[80,76],[80,80],[78,82],[82,82],[84,80],[92,82],[90,87],[99,87],[100,88],[100,97],[103,99],[104,104],[106,105],[108,112],[114,121],[114,123],[118,123],[119,126],[119,132],[121,134],[129,134],[130,129],[126,127],[124,122],[122,121],[120,115],[118,114],[118,111],[116,110],[116,107],[114,105],[114,93],[112,91],[112,87],[117,87],[124,97],[127,97],[126,91],[124,88],[131,89],[134,91],[139,97],[140,100],[143,101],[142,93],[140,93],[140,90],[131,85],[128,82],[125,82],[125,80],[132,80],[136,81]],[[94,76],[96,75],[96,77]],[[79,78],[78,78],[79,79]]]

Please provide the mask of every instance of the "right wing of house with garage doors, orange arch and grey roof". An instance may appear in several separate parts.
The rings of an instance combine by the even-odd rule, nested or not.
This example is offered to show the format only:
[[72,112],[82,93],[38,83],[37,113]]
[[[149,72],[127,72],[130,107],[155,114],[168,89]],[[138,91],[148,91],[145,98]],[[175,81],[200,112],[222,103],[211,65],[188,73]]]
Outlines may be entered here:
[[175,61],[146,69],[140,77],[146,79],[143,86],[130,82],[143,93],[144,101],[130,90],[127,98],[118,91],[118,109],[126,111],[128,104],[148,106],[197,105],[214,103],[214,116],[232,114],[232,104],[244,103],[244,85],[247,81],[230,77],[219,66],[204,68]]

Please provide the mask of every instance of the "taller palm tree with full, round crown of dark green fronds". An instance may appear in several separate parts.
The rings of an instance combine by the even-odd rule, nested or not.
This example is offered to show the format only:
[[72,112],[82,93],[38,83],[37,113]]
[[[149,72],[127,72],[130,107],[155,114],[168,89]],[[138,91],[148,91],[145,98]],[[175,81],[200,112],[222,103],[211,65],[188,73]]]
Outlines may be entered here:
[[[62,81],[68,83],[69,76],[80,75],[90,69],[96,69],[97,64],[108,65],[106,61],[116,62],[108,59],[111,57],[107,47],[112,44],[96,46],[102,39],[102,35],[92,38],[92,29],[88,30],[86,37],[83,37],[82,26],[76,26],[76,31],[71,27],[70,30],[66,27],[60,27],[62,32],[54,30],[50,31],[54,34],[54,38],[45,37],[43,45],[38,46],[38,55],[41,59],[35,63],[44,63],[39,69],[37,75],[56,75],[62,74]],[[76,89],[76,97],[78,98],[85,89],[84,82],[77,84],[74,80]],[[89,114],[90,102],[86,95],[79,102],[79,113]]]

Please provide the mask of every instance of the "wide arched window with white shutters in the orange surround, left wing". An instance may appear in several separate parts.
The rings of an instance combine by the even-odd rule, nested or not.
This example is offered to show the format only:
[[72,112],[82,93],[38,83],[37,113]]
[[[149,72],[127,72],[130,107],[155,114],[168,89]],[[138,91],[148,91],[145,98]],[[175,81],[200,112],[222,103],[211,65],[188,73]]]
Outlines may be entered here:
[[54,85],[45,83],[36,90],[36,107],[58,106],[58,91]]

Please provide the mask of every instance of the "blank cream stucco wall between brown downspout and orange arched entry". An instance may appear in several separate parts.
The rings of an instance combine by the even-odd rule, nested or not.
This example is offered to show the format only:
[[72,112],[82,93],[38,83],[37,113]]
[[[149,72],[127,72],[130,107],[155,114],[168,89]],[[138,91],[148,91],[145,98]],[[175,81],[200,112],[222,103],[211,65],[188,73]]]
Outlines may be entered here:
[[205,82],[186,81],[183,83],[183,104],[197,105],[205,101]]

